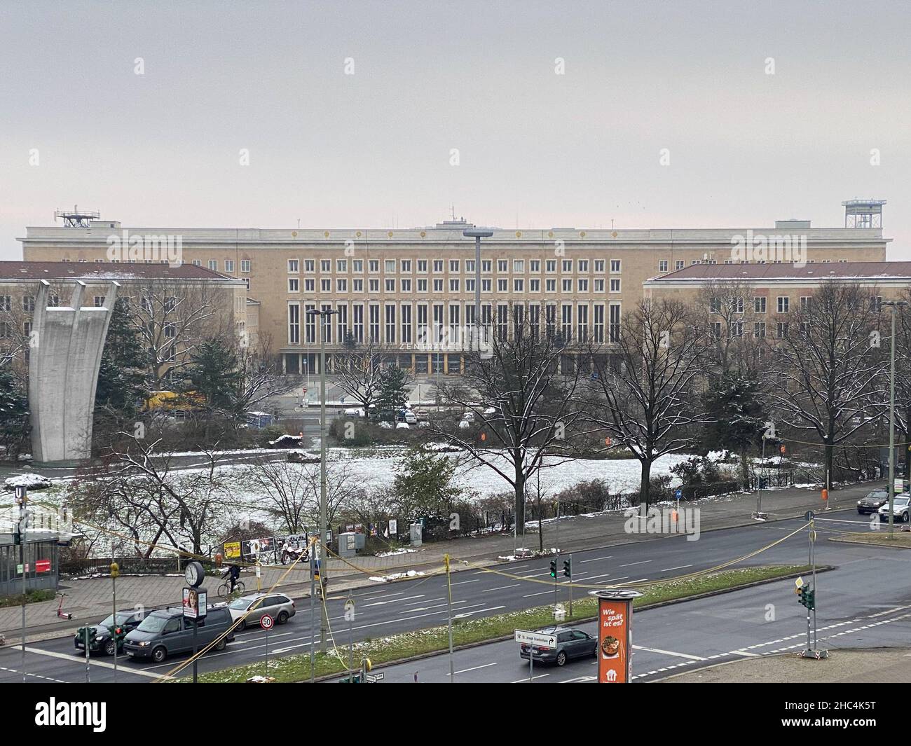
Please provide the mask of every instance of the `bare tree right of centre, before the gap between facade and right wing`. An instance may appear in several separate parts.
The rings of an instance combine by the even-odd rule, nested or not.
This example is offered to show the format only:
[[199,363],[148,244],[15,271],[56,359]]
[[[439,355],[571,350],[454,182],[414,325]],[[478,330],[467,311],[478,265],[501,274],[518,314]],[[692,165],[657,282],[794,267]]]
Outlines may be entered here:
[[650,503],[651,466],[691,448],[692,426],[709,421],[701,376],[711,335],[681,301],[641,301],[607,348],[592,351],[587,418],[639,459],[640,500]]

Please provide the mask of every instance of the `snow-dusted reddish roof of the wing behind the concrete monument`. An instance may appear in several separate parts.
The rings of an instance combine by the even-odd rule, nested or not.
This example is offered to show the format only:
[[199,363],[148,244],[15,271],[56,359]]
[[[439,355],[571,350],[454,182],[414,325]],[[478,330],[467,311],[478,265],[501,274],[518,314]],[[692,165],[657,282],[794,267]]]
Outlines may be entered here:
[[242,282],[195,264],[123,264],[111,261],[0,261],[0,281],[177,280]]

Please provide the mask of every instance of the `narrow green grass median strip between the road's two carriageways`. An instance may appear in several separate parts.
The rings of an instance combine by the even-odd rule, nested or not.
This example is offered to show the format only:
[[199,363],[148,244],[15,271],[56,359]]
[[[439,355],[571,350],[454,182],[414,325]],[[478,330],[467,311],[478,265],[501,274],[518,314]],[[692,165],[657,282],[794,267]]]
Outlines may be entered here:
[[[744,567],[742,569],[724,570],[713,575],[696,577],[690,580],[669,580],[656,582],[639,588],[642,596],[635,600],[635,608],[651,606],[677,598],[698,596],[711,591],[739,588],[744,585],[773,580],[777,577],[803,572],[805,566],[784,565],[771,567]],[[573,601],[573,615],[564,623],[593,619],[596,615],[597,601],[589,598],[588,588],[577,588],[574,595],[581,598]],[[561,590],[560,602],[566,604],[566,591]],[[535,629],[553,624],[553,607],[541,606],[527,608],[523,611],[512,611],[507,614],[476,619],[455,619],[453,624],[453,644],[460,647],[486,640],[512,637],[516,629]],[[347,633],[344,625],[333,628],[337,655],[332,652],[316,655],[316,676],[327,676],[333,673],[343,674],[347,671],[348,648],[345,643]],[[276,647],[279,647],[278,643]],[[364,639],[354,643],[354,666],[360,665],[362,658],[371,659],[374,669],[380,664],[412,656],[446,650],[449,647],[447,628],[432,627],[405,632],[400,635],[379,639]],[[200,675],[200,681],[210,683],[227,683],[245,681],[251,676],[266,675],[264,662],[251,663],[233,669],[212,671]],[[310,654],[286,656],[269,661],[268,675],[278,681],[306,681],[310,679]]]

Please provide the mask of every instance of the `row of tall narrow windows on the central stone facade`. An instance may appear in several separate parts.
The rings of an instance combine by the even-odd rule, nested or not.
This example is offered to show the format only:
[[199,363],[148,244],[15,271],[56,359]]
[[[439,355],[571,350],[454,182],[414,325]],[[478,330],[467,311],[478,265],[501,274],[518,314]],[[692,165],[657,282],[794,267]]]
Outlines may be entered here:
[[[318,342],[317,322],[322,318],[329,320],[321,323],[322,338],[327,344],[372,342],[459,345],[470,338],[475,327],[475,307],[470,304],[463,308],[461,303],[417,303],[413,308],[410,303],[401,306],[394,303],[383,306],[378,303],[353,303],[349,309],[347,303],[340,303],[333,309],[331,304],[323,303],[321,311],[333,311],[333,316],[327,317],[308,313],[316,310],[315,303],[303,304],[303,309],[301,306],[301,303],[288,305],[289,344],[301,344],[302,324],[303,342]],[[534,333],[542,323],[548,330],[558,330],[565,340],[585,342],[589,340],[590,333],[594,342],[617,342],[620,304],[595,303],[590,308],[588,303],[563,303],[559,306],[531,304],[527,307],[506,303],[493,306],[485,303],[481,306],[482,327],[494,329],[497,338],[501,340],[507,339],[510,328],[521,329],[527,326]]]

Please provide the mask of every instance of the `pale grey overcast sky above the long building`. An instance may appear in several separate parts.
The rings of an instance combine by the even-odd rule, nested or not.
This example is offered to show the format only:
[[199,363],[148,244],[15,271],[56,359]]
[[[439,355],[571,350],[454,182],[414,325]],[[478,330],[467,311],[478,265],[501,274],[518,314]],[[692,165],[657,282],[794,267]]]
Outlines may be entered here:
[[0,0],[0,258],[76,203],[143,227],[410,228],[455,203],[501,228],[741,228],[840,226],[873,197],[911,259],[909,21],[897,0]]

